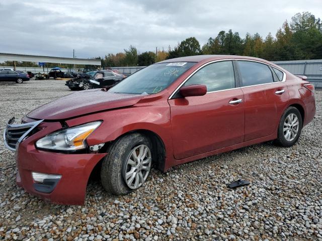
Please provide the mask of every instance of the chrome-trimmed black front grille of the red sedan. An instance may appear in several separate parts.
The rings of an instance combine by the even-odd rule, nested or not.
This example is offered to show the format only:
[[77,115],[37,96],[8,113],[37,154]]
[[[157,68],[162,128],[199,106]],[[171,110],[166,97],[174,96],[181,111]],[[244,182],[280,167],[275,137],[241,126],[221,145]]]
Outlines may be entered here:
[[31,135],[34,128],[37,127],[42,121],[43,119],[25,124],[13,124],[15,122],[15,117],[11,118],[4,132],[5,146],[9,150],[15,151],[17,143],[19,145],[19,143],[28,137],[28,135]]

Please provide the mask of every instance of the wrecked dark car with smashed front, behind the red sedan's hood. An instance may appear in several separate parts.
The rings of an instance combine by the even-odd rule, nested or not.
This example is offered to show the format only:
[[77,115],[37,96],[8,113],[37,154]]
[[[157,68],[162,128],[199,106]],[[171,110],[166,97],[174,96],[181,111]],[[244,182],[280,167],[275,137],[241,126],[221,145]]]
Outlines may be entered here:
[[109,88],[124,79],[122,74],[109,70],[90,71],[86,74],[66,81],[66,86],[71,90],[87,90],[95,88]]

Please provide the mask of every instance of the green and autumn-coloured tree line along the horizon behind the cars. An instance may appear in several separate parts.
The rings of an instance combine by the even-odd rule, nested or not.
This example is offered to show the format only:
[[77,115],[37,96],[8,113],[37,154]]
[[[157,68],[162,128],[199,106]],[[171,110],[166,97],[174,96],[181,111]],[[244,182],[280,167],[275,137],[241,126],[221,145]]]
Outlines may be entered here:
[[[135,46],[130,45],[124,52],[107,54],[101,59],[102,66],[146,66],[165,59],[177,57],[203,55],[203,54],[227,54],[244,55],[263,58],[269,61],[322,59],[322,23],[319,18],[308,12],[297,13],[288,23],[285,21],[273,36],[269,33],[265,39],[259,34],[247,33],[241,38],[238,32],[220,31],[216,37],[210,37],[201,46],[195,37],[187,38],[178,43],[174,48],[162,49],[157,52],[147,51],[139,53]],[[0,65],[13,66],[12,61]],[[26,62],[18,62],[17,66],[27,66]],[[36,67],[35,63],[28,63],[28,67]],[[46,64],[46,67],[54,67],[57,64]],[[70,68],[68,64],[58,64],[59,67]],[[77,68],[91,66],[77,65]],[[93,66],[92,66],[93,67]]]

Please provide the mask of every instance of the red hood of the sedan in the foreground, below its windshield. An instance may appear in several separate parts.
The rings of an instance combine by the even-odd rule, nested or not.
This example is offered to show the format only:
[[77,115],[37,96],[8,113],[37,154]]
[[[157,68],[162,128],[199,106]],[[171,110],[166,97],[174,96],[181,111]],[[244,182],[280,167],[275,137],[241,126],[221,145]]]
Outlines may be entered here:
[[27,117],[47,120],[68,119],[107,109],[131,106],[143,97],[144,95],[112,93],[101,89],[78,91],[32,110]]

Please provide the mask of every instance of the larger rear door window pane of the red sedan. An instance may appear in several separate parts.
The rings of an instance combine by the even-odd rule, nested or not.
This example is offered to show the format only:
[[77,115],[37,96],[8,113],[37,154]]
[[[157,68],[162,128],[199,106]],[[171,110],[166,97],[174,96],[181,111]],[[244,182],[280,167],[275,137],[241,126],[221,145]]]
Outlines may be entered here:
[[252,61],[237,61],[241,86],[273,83],[273,74],[268,65]]

